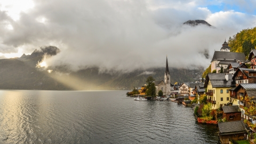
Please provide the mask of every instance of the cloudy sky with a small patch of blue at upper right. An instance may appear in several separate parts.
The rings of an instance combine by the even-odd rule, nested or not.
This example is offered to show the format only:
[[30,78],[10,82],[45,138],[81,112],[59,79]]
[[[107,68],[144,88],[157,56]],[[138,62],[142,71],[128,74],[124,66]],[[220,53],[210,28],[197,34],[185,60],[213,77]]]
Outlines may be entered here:
[[225,39],[256,26],[255,7],[255,0],[0,0],[0,59],[52,45],[61,52],[44,59],[47,66],[72,70],[129,73],[165,67],[166,55],[169,67],[206,68]]

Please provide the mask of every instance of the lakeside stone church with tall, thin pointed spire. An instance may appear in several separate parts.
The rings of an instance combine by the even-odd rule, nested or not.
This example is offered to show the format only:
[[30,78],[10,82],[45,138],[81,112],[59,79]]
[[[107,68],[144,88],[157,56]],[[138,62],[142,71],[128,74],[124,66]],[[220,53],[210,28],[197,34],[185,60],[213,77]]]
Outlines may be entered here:
[[156,95],[158,95],[158,91],[162,90],[164,95],[171,95],[171,76],[169,72],[169,67],[168,67],[168,61],[166,57],[166,66],[165,66],[165,73],[164,73],[164,81],[155,81],[155,86],[156,86]]

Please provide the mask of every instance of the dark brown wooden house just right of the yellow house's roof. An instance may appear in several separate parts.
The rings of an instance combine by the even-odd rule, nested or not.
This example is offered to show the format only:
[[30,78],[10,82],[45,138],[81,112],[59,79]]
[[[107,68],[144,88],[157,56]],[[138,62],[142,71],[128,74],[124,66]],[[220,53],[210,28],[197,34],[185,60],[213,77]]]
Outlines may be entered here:
[[249,68],[238,68],[233,75],[236,86],[243,83],[256,83],[256,71]]

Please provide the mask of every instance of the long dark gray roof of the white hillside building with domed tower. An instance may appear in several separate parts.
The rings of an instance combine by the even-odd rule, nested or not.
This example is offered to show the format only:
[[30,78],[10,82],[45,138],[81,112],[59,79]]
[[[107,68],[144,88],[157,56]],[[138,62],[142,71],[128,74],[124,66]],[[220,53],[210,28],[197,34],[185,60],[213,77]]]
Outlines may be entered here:
[[[225,61],[245,61],[244,53],[238,52],[225,52],[225,51],[215,51],[212,57],[212,61],[214,60],[225,60]],[[212,62],[211,61],[211,62]]]

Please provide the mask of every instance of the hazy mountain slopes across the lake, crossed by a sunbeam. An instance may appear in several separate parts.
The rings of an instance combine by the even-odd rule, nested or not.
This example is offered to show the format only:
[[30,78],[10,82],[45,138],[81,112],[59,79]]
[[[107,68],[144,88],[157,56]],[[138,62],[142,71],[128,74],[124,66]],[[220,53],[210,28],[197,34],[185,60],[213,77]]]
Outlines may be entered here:
[[[44,55],[54,57],[60,50],[55,46],[41,47],[30,55],[0,60],[0,89],[18,90],[117,90],[133,89],[146,83],[148,76],[164,79],[165,67],[135,70],[131,73],[100,73],[99,68],[71,71],[65,67],[36,68]],[[203,68],[169,68],[171,83],[195,82]]]

